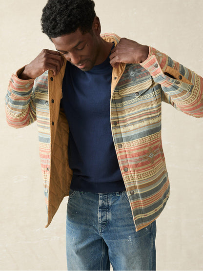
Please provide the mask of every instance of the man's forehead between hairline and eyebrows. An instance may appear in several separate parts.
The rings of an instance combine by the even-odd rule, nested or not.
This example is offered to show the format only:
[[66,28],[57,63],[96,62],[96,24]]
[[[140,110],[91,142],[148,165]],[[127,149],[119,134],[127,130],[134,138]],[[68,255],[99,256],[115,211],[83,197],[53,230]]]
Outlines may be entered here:
[[51,40],[58,51],[68,51],[79,45],[81,42],[87,41],[90,37],[90,33],[82,34],[81,31],[77,29],[74,33],[52,38]]

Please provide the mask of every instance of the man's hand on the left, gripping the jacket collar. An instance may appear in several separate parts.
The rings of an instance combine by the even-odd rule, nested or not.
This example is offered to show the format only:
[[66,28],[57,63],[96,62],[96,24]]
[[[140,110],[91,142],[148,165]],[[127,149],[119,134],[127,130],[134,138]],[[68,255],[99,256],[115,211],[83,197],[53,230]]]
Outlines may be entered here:
[[55,76],[60,72],[63,64],[64,60],[59,52],[43,49],[31,63],[24,67],[19,78],[22,80],[34,79],[46,70],[52,70]]

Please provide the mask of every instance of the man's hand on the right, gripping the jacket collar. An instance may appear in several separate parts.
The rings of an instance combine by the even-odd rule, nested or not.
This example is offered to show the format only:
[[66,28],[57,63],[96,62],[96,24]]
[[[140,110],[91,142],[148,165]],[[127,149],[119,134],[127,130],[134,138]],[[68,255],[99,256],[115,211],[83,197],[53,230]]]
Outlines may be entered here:
[[147,45],[122,38],[111,51],[110,64],[117,68],[119,63],[142,63],[147,59],[148,54],[149,47]]

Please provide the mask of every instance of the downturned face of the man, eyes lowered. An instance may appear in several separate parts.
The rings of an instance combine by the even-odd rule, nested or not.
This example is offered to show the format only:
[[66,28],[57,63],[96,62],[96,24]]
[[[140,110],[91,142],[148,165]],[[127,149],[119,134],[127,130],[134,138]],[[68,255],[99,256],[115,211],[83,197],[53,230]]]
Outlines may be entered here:
[[99,43],[96,34],[82,34],[79,29],[74,33],[52,38],[56,49],[64,58],[82,71],[89,71],[97,65]]

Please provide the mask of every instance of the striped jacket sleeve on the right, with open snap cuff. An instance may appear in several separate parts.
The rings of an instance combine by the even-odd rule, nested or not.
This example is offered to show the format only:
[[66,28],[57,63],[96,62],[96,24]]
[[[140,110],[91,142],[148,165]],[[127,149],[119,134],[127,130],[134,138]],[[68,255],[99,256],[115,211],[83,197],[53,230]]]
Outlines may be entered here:
[[141,65],[161,84],[162,101],[188,115],[203,117],[202,77],[152,47]]

